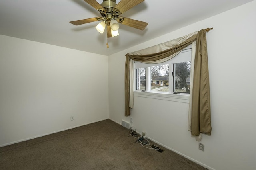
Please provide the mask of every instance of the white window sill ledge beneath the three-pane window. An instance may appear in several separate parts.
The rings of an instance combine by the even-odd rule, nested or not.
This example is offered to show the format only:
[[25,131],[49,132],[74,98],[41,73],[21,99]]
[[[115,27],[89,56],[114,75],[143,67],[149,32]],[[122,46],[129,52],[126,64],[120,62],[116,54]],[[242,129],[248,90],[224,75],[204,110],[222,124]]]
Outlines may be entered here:
[[153,98],[158,100],[169,100],[174,102],[189,103],[189,94],[167,94],[156,92],[134,91],[134,96],[142,98]]

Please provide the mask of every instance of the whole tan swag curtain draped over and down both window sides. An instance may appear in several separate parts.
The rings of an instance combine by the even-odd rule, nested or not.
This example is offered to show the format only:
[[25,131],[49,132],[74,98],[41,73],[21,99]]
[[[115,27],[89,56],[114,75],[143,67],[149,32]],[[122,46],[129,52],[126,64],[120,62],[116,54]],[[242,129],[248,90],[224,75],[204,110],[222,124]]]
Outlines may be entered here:
[[[151,53],[146,55],[126,54],[125,63],[125,116],[130,115],[130,64],[133,61],[145,63],[153,63],[168,57],[175,57],[182,49],[196,41],[196,54],[194,64],[194,80],[192,89],[192,108],[191,108],[191,135],[198,136],[200,133],[211,134],[211,114],[210,114],[210,86],[208,76],[208,59],[207,59],[207,44],[206,44],[206,29],[198,31],[193,35],[178,43],[174,47]],[[171,56],[171,57],[170,57]],[[131,80],[132,81],[132,80]],[[132,88],[133,89],[133,88]],[[132,92],[133,93],[133,92]]]

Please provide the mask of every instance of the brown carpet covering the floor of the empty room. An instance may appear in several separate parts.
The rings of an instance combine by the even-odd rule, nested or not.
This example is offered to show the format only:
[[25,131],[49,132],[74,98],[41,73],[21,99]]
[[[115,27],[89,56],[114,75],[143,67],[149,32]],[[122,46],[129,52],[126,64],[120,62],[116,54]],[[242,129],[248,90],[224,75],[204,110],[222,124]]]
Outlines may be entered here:
[[105,120],[1,147],[0,169],[205,170],[164,147],[161,149],[162,153],[142,147],[128,129]]

